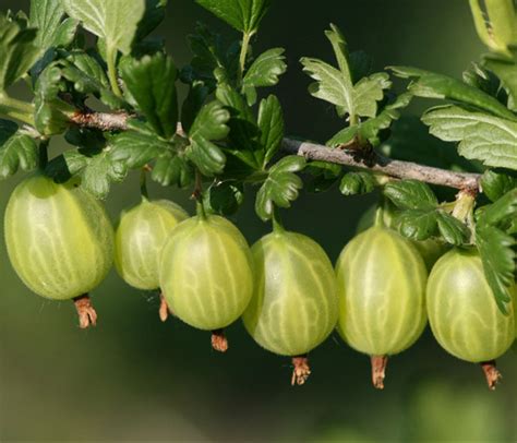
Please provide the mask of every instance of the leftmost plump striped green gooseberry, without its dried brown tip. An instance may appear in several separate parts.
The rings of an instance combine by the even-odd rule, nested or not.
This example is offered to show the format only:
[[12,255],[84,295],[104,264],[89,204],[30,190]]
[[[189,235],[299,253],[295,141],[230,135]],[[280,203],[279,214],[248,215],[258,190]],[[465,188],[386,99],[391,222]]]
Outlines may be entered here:
[[20,183],[5,211],[5,243],[34,292],[68,300],[94,289],[113,261],[113,229],[91,194],[43,175]]

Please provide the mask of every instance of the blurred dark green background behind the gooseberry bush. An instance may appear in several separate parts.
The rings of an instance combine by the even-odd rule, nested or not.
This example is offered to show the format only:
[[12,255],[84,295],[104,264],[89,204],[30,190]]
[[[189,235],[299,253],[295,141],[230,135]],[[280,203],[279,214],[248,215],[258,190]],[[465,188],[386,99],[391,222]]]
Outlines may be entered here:
[[[334,110],[306,93],[301,56],[330,60],[323,31],[339,25],[351,49],[375,68],[413,64],[460,75],[483,48],[467,0],[276,0],[255,50],[287,48],[289,72],[276,93],[289,133],[325,141],[340,129]],[[2,10],[27,0],[1,0]],[[236,37],[192,0],[171,0],[156,34],[178,65],[189,60],[185,36],[196,21]],[[1,60],[0,60],[1,62]],[[20,91],[20,94],[24,94]],[[453,148],[453,146],[448,146]],[[60,149],[52,142],[51,154]],[[0,215],[20,178],[0,183]],[[192,209],[188,192],[153,187]],[[235,222],[250,242],[269,227],[254,215],[252,194]],[[113,220],[137,200],[137,178],[116,185]],[[336,260],[374,197],[336,190],[303,194],[286,212],[289,229],[317,240]],[[77,251],[80,253],[80,251]],[[334,334],[311,355],[306,385],[291,387],[287,359],[253,343],[240,324],[218,355],[209,336],[178,320],[161,324],[157,299],[112,272],[93,294],[99,324],[80,331],[71,302],[46,301],[15,276],[0,243],[0,441],[517,441],[517,354],[500,361],[505,378],[490,392],[481,370],[449,357],[429,331],[390,360],[384,392],[370,383],[366,356]]]

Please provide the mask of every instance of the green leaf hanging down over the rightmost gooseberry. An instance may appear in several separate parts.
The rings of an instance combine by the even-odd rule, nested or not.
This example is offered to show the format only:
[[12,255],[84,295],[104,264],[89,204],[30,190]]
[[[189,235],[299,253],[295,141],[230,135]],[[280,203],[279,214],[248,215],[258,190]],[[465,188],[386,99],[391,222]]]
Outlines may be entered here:
[[493,226],[478,226],[476,244],[497,307],[503,313],[507,313],[507,303],[512,302],[510,289],[514,284],[515,239]]

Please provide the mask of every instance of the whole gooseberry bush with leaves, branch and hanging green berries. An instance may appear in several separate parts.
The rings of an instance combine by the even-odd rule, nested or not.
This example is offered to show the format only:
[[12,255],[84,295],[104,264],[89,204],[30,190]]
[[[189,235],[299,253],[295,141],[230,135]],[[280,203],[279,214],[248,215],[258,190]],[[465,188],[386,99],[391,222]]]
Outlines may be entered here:
[[[32,0],[28,15],[0,13],[0,179],[27,173],[3,228],[20,278],[41,297],[73,300],[88,327],[97,321],[88,295],[115,263],[129,285],[161,294],[161,320],[171,313],[212,332],[216,350],[227,350],[224,330],[242,318],[260,346],[292,358],[293,384],[337,328],[371,357],[382,388],[388,356],[412,346],[429,319],[442,347],[480,363],[493,388],[495,359],[517,327],[515,2],[470,0],[489,51],[461,80],[413,67],[371,72],[371,59],[330,25],[336,60],[304,57],[300,67],[309,93],[342,122],[324,144],[286,135],[267,91],[287,70],[285,50],[252,50],[272,1],[196,3],[239,38],[226,45],[199,24],[182,68],[153,35],[167,0]],[[31,101],[14,96],[16,83]],[[441,101],[421,120],[452,143],[445,153],[395,123],[426,98]],[[58,136],[68,147],[49,156]],[[113,228],[101,201],[132,171],[141,197]],[[147,180],[191,193],[196,215],[153,200]],[[303,187],[334,185],[380,196],[335,268],[280,219]],[[273,226],[252,248],[226,218],[248,188]]]

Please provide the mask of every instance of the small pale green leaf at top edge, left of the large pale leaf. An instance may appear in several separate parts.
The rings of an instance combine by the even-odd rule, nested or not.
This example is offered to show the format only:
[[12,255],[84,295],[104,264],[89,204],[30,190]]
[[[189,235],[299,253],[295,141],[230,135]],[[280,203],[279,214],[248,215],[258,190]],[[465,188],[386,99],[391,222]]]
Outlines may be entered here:
[[72,43],[79,22],[73,19],[61,21],[64,9],[60,1],[32,0],[29,24],[38,33],[34,40],[41,52],[57,46],[68,46]]

